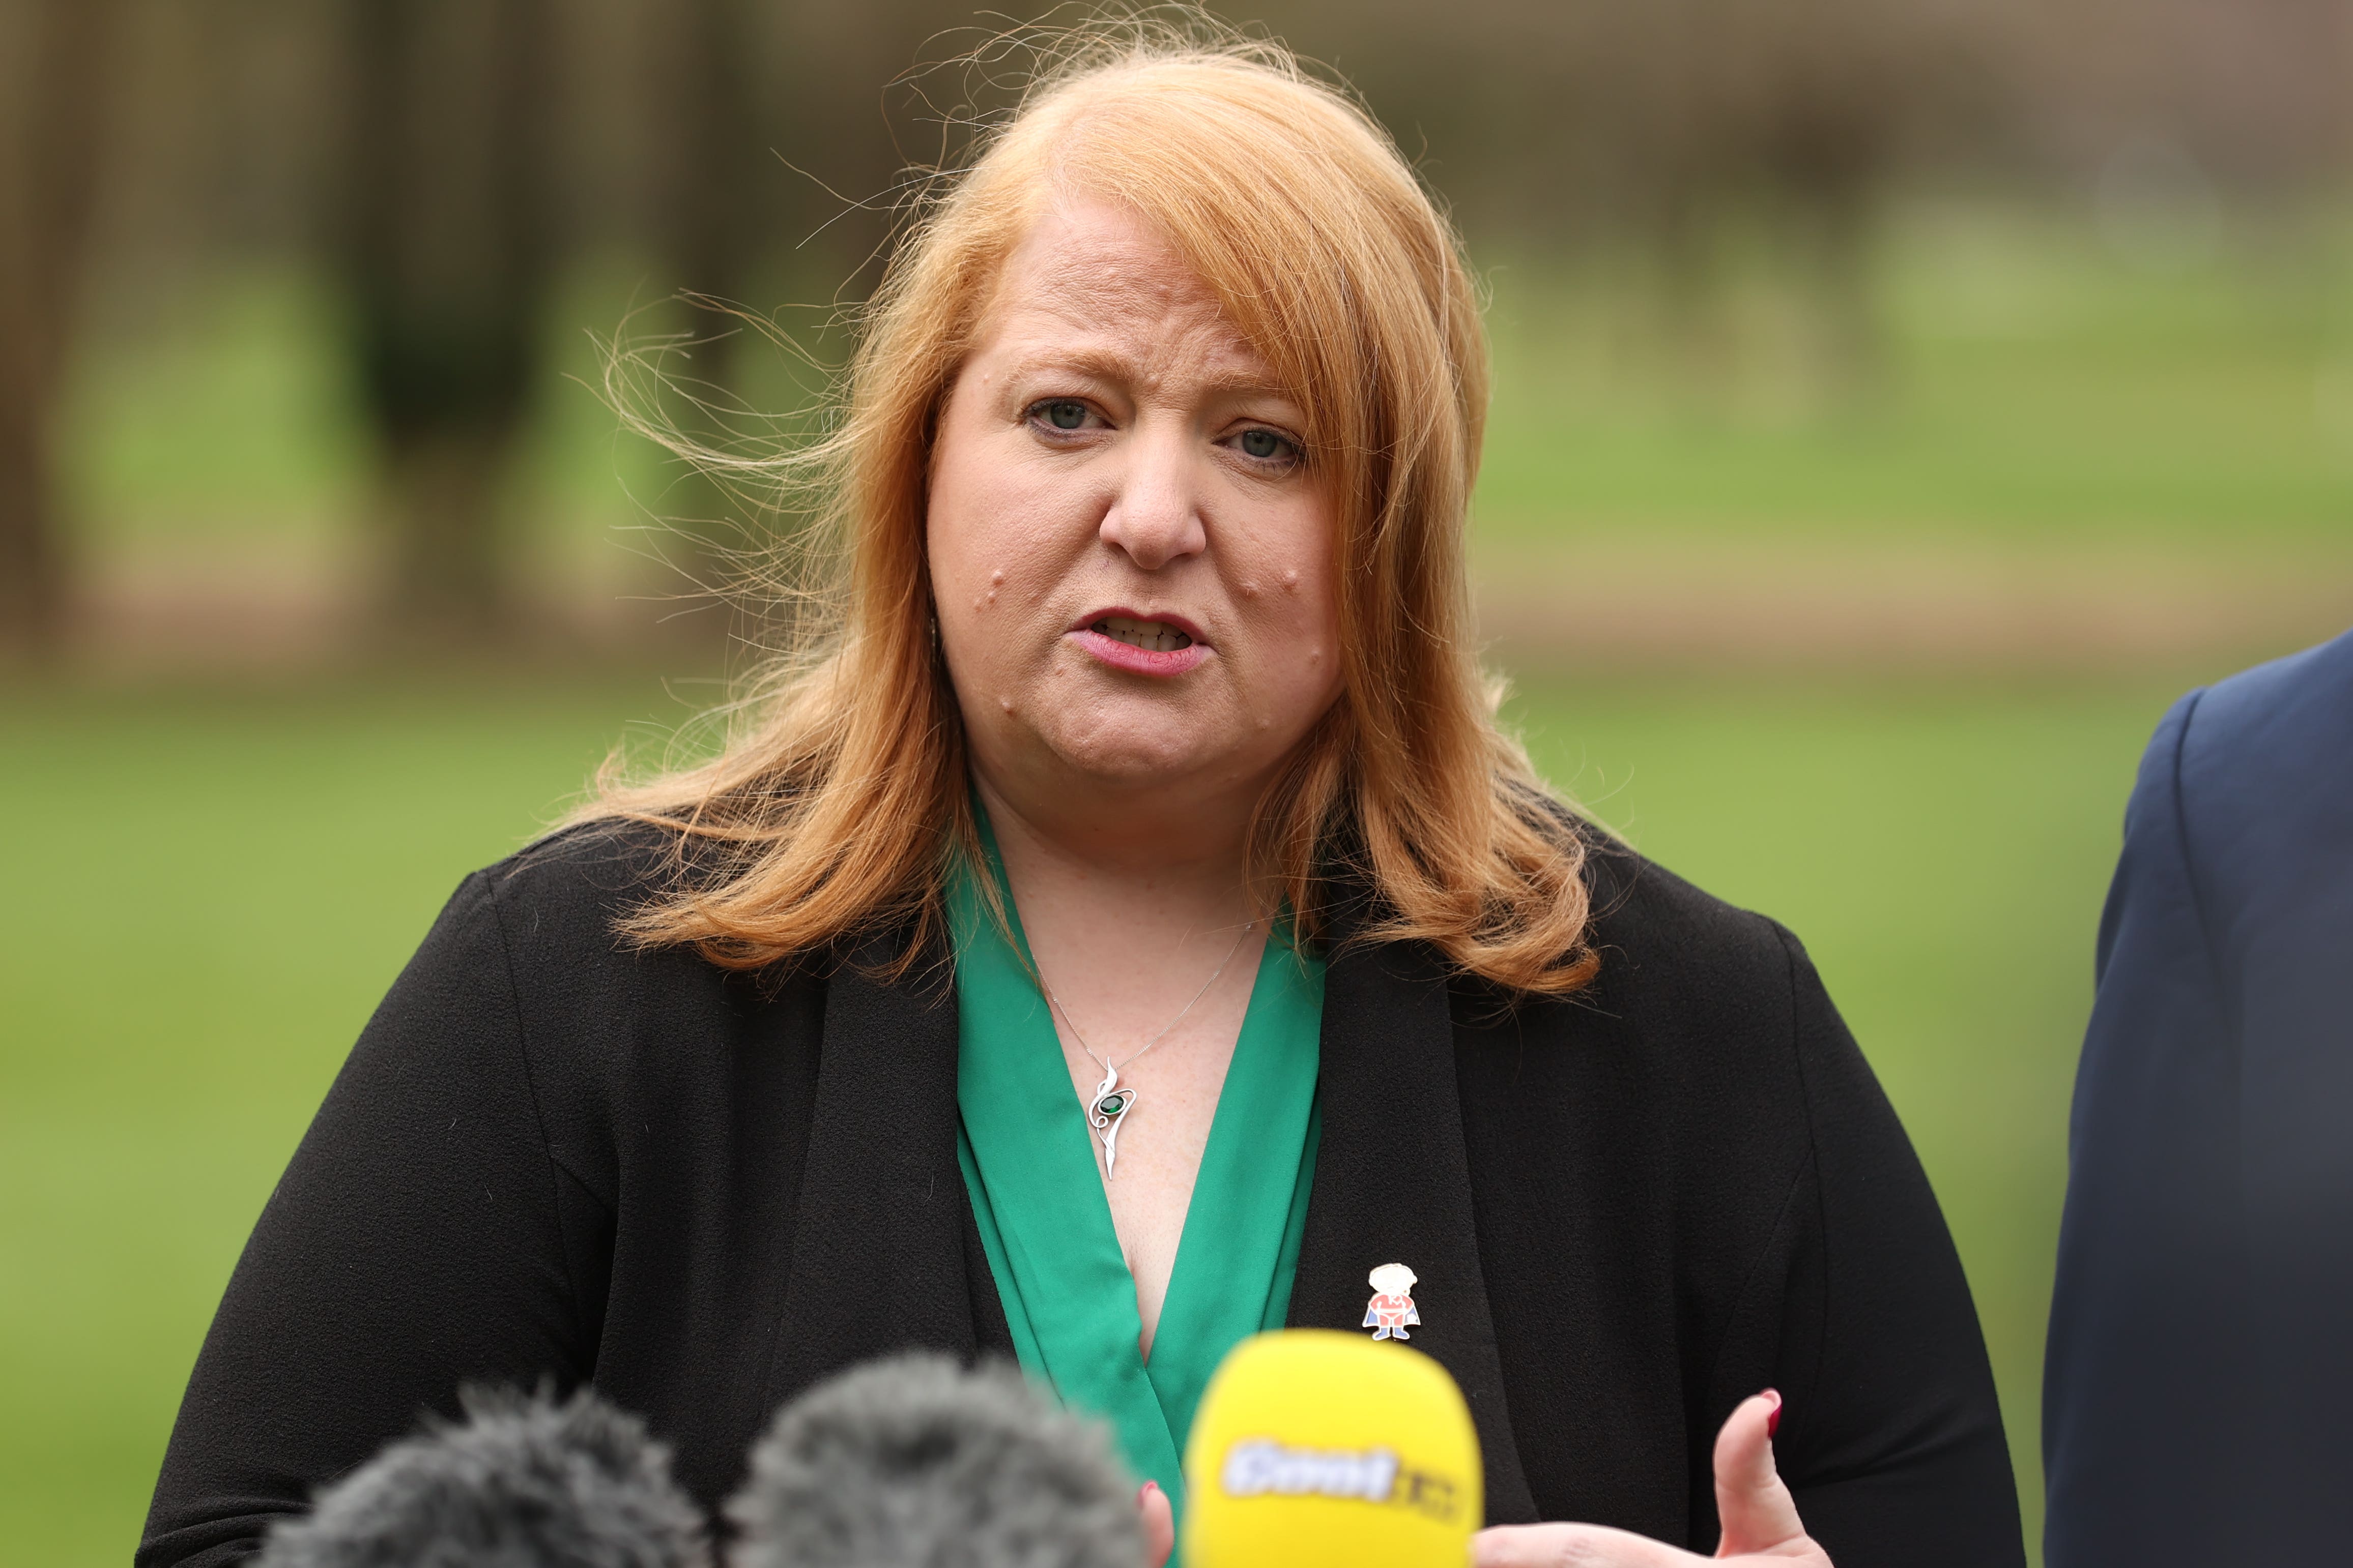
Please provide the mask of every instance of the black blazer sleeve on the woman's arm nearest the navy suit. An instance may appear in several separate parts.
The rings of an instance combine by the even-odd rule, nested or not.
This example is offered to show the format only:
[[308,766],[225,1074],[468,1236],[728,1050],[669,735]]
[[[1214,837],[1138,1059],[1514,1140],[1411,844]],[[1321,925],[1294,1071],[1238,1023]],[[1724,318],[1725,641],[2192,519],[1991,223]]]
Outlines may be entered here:
[[1781,940],[1812,1182],[1784,1215],[1802,1241],[1784,1295],[1777,1462],[1838,1568],[2024,1566],[2017,1479],[1960,1253],[1821,978],[1793,936]]

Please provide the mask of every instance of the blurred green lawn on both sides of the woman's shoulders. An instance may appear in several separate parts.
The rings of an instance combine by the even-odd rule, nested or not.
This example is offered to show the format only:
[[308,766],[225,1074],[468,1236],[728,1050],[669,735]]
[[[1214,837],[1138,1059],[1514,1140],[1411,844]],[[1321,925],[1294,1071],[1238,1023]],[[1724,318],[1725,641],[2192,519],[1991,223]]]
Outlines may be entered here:
[[[1960,1239],[2028,1519],[2092,926],[2172,684],[1532,682],[1541,766],[1788,922]],[[245,1229],[456,879],[649,679],[0,689],[0,1540],[122,1561]]]

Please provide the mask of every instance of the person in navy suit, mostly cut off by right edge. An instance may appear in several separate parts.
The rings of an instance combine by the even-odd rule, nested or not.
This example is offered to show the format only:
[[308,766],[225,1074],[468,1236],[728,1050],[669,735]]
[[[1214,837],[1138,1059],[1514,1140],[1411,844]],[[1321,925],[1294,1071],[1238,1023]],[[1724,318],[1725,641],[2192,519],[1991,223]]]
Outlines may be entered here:
[[2049,1568],[2353,1554],[2353,632],[2141,759],[2042,1378]]

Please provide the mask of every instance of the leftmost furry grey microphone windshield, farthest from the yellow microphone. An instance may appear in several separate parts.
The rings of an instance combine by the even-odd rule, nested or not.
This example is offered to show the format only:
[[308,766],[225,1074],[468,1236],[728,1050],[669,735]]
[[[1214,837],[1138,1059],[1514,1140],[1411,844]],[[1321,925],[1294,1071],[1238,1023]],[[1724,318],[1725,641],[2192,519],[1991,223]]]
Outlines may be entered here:
[[271,1528],[256,1568],[708,1568],[671,1450],[588,1389],[464,1389]]

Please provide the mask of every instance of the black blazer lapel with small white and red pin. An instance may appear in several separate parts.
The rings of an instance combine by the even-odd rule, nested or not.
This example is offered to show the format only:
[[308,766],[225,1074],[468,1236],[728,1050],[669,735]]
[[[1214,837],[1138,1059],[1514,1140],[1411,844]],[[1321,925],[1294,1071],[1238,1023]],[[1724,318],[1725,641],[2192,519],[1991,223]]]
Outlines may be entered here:
[[1421,1326],[1471,1403],[1487,1465],[1487,1521],[1532,1523],[1534,1495],[1504,1408],[1504,1361],[1487,1312],[1471,1215],[1471,1161],[1454,1081],[1445,971],[1421,947],[1341,945],[1325,969],[1322,1147],[1308,1197],[1294,1328],[1365,1333],[1365,1274],[1417,1274]]

